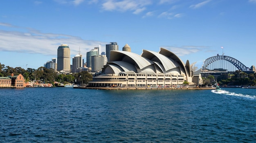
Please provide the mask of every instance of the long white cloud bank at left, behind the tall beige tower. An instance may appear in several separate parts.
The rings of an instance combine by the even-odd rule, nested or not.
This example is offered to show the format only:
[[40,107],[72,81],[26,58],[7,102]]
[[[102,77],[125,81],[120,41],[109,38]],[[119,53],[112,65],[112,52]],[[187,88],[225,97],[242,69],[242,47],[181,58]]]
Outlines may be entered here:
[[70,47],[71,55],[86,55],[99,44],[107,44],[101,41],[83,40],[71,35],[42,33],[36,30],[28,32],[0,30],[0,51],[26,52],[30,54],[43,54],[56,56],[58,46],[66,43]]

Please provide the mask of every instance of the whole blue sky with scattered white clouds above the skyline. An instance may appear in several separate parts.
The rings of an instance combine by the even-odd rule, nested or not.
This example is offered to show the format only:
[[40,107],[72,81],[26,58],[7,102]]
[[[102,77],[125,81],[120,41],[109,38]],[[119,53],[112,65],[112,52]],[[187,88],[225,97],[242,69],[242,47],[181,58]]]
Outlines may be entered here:
[[[0,63],[34,68],[106,44],[176,54],[184,63],[222,54],[256,65],[256,0],[1,0]],[[223,47],[223,49],[221,48]]]

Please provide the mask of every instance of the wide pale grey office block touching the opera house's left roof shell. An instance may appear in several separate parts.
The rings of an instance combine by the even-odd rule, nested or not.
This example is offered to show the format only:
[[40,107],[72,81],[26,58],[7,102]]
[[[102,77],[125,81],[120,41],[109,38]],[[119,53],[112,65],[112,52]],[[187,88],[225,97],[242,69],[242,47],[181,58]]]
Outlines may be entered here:
[[92,72],[99,72],[106,65],[108,59],[106,55],[92,56]]

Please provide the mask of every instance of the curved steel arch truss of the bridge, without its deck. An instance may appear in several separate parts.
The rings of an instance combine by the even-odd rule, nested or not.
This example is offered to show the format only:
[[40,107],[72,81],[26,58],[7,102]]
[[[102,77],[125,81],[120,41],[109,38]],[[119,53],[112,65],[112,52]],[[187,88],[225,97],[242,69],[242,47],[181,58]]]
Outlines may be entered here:
[[235,58],[232,58],[230,56],[212,56],[210,58],[207,58],[204,63],[202,69],[208,69],[207,67],[217,61],[228,61],[229,63],[233,64],[238,70],[241,71],[248,71],[249,67],[246,67],[243,63],[238,61]]

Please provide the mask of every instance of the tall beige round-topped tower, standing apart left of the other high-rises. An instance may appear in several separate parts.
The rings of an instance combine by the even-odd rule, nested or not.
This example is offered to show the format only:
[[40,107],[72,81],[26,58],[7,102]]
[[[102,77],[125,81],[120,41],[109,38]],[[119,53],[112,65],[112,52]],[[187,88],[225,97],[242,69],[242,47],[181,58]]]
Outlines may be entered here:
[[70,48],[67,44],[61,44],[58,47],[58,56],[57,56],[58,64],[57,70],[64,72],[70,72]]

